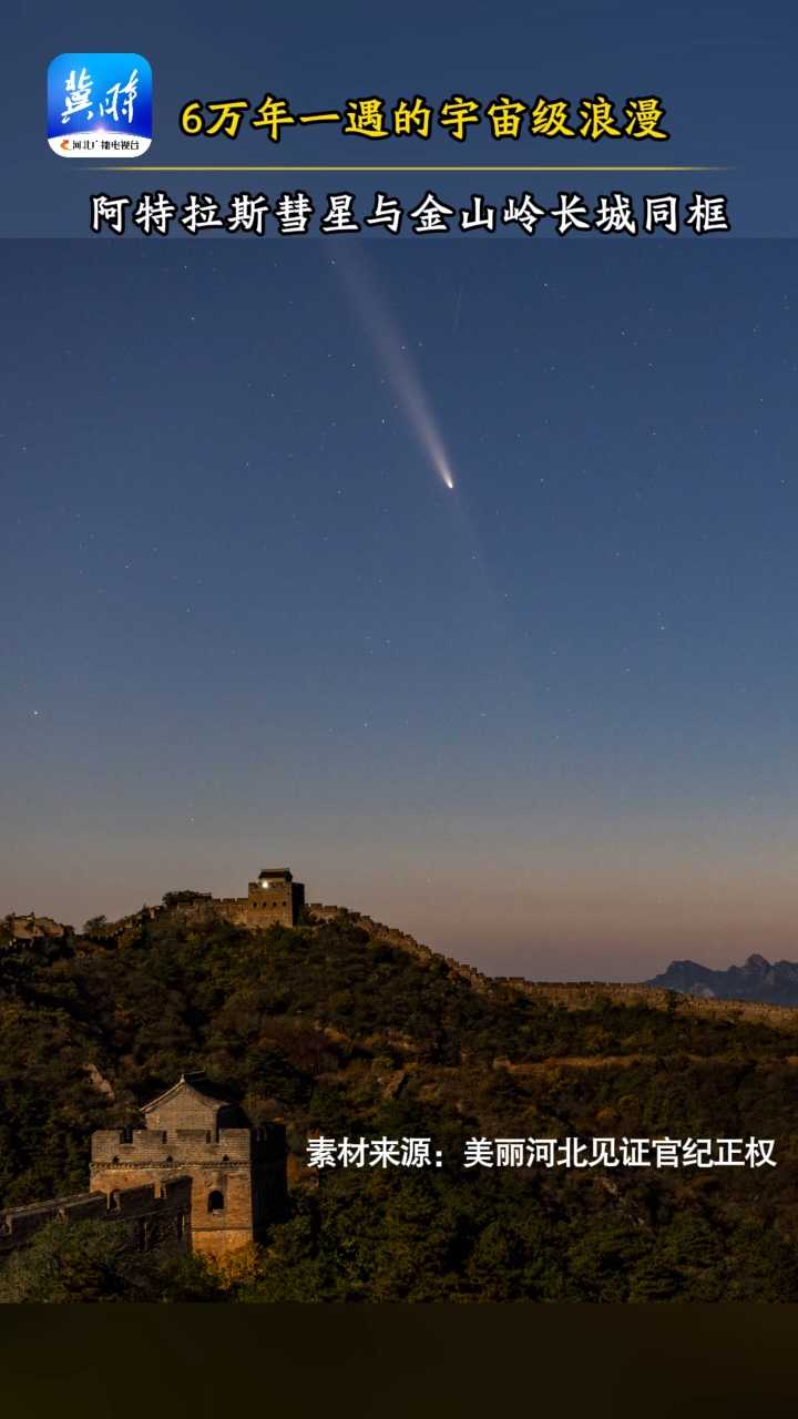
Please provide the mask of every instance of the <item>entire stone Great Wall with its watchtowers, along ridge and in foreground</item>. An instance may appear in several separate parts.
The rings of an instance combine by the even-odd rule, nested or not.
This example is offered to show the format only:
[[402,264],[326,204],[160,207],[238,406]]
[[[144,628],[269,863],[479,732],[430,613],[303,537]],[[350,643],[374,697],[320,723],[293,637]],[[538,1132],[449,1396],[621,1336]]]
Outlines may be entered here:
[[[204,893],[168,894],[162,905],[116,922],[119,935],[142,921],[173,914],[190,925],[226,920],[248,929],[273,925],[319,927],[344,921],[417,959],[437,959],[479,992],[523,993],[538,1005],[592,1010],[605,1005],[649,1007],[730,1023],[758,1023],[798,1034],[798,1009],[745,1000],[676,995],[659,986],[603,981],[534,982],[523,976],[487,976],[434,952],[413,937],[346,907],[308,902],[288,868],[264,868],[248,884],[247,897],[216,898]],[[75,939],[71,927],[50,917],[9,915],[0,924],[0,945]],[[501,1061],[496,1061],[497,1064]],[[538,1067],[538,1066],[535,1066]],[[87,1066],[88,1071],[94,1066]],[[108,1090],[98,1076],[95,1087]],[[92,1191],[0,1212],[0,1259],[24,1247],[48,1222],[65,1225],[104,1220],[125,1227],[139,1250],[193,1247],[220,1256],[258,1240],[278,1216],[287,1196],[285,1135],[280,1125],[253,1130],[237,1105],[199,1076],[183,1076],[166,1094],[142,1110],[145,1128],[101,1130],[92,1135]]]

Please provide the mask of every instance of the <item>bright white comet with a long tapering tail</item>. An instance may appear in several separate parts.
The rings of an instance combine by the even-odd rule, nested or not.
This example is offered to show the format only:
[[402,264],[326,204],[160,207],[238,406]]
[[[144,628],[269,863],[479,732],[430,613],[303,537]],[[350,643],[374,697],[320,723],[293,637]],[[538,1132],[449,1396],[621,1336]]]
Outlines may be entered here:
[[434,414],[425,394],[417,372],[413,366],[408,346],[402,338],[396,322],[381,298],[381,294],[371,280],[365,265],[355,270],[346,257],[337,258],[335,270],[339,271],[352,304],[361,318],[364,329],[369,336],[375,355],[385,369],[386,377],[403,407],[408,423],[413,431],[422,453],[434,468],[437,477],[450,492],[454,491],[454,475],[446,453],[443,437],[437,427]]

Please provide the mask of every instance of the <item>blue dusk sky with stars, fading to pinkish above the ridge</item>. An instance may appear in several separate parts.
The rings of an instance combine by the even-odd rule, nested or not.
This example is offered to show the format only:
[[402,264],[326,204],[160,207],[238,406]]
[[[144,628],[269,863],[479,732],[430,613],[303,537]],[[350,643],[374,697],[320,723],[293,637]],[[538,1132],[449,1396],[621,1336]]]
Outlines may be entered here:
[[[653,91],[741,230],[798,230],[787,7],[239,10],[6,23],[0,234],[75,240],[1,251],[0,911],[285,864],[496,973],[798,958],[794,244],[92,240],[43,136],[71,48],[151,58],[162,160],[258,82]],[[376,160],[341,143],[293,153]]]

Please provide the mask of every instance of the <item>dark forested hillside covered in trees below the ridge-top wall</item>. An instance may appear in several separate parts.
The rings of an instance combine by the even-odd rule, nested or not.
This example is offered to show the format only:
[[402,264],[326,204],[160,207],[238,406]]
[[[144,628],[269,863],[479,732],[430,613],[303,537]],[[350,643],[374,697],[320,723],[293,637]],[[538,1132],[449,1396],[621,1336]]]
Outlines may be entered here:
[[[0,1206],[84,1191],[91,1131],[203,1069],[253,1122],[285,1122],[298,1179],[288,1220],[213,1298],[798,1300],[795,1056],[798,1019],[611,992],[569,1010],[346,917],[98,921],[0,945]],[[443,1166],[302,1181],[318,1132],[429,1137]],[[778,1165],[463,1166],[469,1138],[568,1135],[754,1135]]]

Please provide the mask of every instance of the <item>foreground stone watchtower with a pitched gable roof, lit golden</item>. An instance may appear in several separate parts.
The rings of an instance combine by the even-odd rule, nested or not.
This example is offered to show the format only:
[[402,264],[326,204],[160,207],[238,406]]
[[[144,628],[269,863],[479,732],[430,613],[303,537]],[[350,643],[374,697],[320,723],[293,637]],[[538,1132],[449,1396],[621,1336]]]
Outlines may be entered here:
[[223,1256],[260,1242],[285,1206],[285,1131],[253,1128],[240,1107],[203,1074],[142,1108],[145,1127],[98,1130],[91,1139],[91,1188],[114,1192],[169,1178],[192,1179],[195,1252]]

